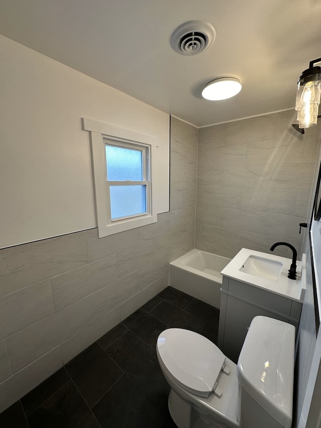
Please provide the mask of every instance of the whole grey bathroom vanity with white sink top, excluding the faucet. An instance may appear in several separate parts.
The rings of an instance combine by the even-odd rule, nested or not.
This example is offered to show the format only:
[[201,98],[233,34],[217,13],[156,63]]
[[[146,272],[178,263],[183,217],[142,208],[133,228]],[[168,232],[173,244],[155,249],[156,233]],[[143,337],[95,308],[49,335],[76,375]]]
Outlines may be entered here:
[[297,329],[305,289],[305,257],[297,279],[287,277],[291,260],[242,248],[222,270],[218,346],[237,362],[253,318],[263,315]]

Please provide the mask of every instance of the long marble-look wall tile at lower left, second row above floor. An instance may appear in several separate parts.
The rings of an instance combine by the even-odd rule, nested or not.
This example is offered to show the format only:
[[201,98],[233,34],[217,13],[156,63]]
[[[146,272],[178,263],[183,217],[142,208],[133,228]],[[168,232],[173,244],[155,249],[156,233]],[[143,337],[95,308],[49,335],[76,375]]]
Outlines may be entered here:
[[31,364],[92,322],[90,298],[56,312],[6,339],[13,373]]

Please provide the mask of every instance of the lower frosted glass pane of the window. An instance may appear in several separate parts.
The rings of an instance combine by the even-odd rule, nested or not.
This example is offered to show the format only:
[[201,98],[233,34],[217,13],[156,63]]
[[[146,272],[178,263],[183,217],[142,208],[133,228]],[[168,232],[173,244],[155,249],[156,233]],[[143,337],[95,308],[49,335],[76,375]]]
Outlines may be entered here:
[[146,212],[146,185],[110,186],[111,218]]

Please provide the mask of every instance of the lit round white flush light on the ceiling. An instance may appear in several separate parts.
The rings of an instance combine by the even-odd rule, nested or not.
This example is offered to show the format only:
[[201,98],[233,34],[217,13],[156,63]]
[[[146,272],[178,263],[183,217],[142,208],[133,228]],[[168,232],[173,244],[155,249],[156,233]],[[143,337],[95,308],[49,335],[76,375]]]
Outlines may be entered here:
[[234,97],[242,89],[236,77],[219,77],[209,82],[202,91],[202,97],[211,101]]

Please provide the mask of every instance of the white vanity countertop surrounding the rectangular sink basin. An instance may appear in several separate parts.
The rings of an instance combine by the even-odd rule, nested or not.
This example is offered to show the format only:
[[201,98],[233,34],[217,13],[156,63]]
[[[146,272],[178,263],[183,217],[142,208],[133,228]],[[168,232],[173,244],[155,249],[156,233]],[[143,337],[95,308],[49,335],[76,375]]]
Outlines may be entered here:
[[[242,272],[240,268],[251,255],[281,262],[283,265],[278,280],[271,281],[266,278]],[[241,282],[246,282],[254,287],[268,290],[271,293],[287,297],[288,299],[302,302],[305,290],[305,254],[302,256],[302,262],[296,262],[296,280],[287,277],[291,262],[292,260],[290,258],[280,257],[273,253],[263,253],[261,251],[242,248],[236,256],[232,258],[229,264],[224,267],[221,274]]]

